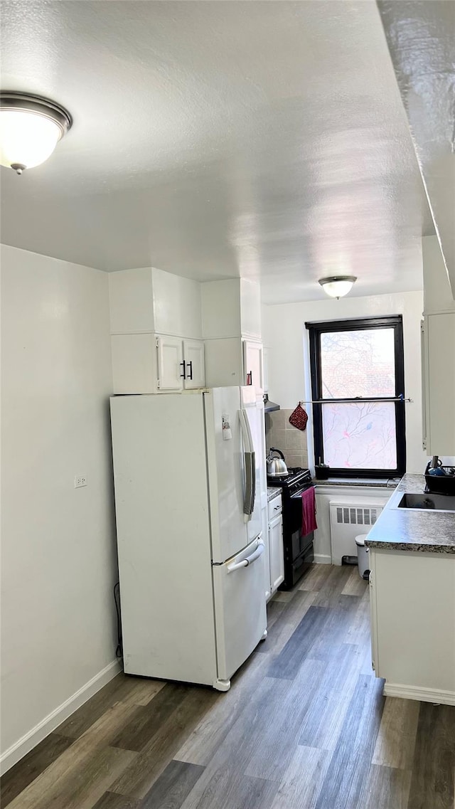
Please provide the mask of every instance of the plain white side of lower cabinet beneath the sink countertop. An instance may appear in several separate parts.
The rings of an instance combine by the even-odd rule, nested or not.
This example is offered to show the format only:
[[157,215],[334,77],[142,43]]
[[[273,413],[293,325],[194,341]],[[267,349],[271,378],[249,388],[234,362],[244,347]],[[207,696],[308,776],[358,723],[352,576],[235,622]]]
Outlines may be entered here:
[[372,661],[385,695],[455,705],[455,554],[369,556]]

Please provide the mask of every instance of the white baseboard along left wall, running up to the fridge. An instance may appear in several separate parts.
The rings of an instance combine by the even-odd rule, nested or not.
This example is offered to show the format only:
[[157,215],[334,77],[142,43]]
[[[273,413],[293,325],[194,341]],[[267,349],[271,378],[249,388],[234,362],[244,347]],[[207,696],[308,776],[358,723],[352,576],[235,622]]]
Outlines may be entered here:
[[120,671],[120,664],[118,660],[113,660],[102,671],[95,674],[82,688],[79,688],[72,697],[65,702],[62,702],[51,714],[44,717],[31,731],[28,731],[14,744],[8,748],[2,756],[0,756],[0,773],[6,773],[6,770],[13,767],[17,762],[27,755],[37,744],[43,741],[49,733],[55,731],[56,727],[65,722],[74,711],[81,707],[87,700],[103,688],[110,680],[112,680]]

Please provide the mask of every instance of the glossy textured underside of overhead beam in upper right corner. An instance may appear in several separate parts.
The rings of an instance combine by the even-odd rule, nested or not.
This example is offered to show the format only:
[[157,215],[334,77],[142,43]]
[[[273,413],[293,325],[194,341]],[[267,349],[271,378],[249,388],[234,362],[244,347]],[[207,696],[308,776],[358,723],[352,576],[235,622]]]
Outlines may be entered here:
[[455,297],[455,2],[378,6]]

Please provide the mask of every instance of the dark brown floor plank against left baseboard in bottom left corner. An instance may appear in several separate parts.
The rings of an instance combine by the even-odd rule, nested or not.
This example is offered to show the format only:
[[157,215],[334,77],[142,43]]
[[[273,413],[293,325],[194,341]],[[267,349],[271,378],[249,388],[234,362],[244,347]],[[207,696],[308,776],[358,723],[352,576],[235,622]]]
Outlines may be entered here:
[[25,788],[35,781],[61,753],[70,747],[73,739],[57,733],[49,734],[40,744],[27,753],[19,764],[11,767],[0,781],[0,806],[6,807]]

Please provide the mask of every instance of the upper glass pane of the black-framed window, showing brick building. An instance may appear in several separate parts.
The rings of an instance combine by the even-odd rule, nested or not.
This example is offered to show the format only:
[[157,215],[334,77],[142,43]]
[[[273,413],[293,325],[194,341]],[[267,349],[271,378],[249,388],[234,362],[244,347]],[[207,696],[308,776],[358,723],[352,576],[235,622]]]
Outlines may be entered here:
[[323,399],[394,396],[394,329],[322,332],[321,379]]

